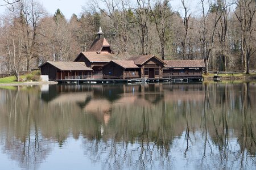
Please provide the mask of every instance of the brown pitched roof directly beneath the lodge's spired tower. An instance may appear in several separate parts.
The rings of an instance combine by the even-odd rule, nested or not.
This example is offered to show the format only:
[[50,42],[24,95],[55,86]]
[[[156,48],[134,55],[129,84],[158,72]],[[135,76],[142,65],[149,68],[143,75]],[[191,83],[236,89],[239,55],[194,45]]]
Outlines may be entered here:
[[81,55],[87,58],[90,62],[110,62],[114,58],[114,54],[107,53],[107,52],[102,52],[102,53],[81,52],[79,56],[76,57],[75,61]]

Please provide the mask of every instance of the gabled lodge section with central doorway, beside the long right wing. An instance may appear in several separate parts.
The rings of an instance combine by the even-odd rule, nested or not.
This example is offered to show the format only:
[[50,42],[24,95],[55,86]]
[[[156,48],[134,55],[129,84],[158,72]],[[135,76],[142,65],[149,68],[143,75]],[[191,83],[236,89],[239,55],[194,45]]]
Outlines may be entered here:
[[142,78],[162,78],[164,62],[152,55],[142,55],[130,58],[141,68]]

